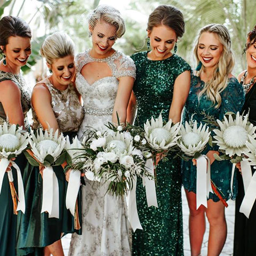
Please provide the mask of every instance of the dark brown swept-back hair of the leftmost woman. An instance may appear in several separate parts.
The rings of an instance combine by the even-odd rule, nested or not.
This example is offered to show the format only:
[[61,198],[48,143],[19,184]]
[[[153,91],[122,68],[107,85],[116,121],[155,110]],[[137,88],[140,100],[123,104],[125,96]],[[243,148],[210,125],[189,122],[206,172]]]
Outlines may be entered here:
[[0,45],[4,46],[4,50],[11,36],[28,37],[31,39],[29,25],[19,17],[3,17],[0,20]]

